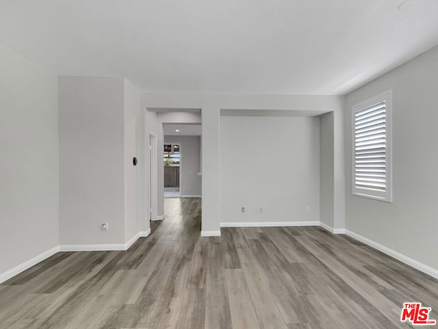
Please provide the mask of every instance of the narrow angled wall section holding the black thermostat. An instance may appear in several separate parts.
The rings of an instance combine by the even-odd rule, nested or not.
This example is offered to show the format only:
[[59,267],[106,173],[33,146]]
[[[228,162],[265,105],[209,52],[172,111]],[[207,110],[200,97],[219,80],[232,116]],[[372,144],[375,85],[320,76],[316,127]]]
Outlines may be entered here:
[[[140,231],[140,93],[125,79],[125,242]],[[138,158],[137,166],[133,157]],[[142,217],[143,221],[146,221]]]

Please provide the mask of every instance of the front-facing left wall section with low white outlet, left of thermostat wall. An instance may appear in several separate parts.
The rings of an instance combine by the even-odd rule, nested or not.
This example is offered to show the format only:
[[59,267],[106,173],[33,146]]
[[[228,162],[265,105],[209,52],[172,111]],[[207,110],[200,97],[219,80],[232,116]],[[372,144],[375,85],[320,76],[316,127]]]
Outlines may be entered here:
[[124,95],[122,78],[59,78],[62,245],[125,243]]

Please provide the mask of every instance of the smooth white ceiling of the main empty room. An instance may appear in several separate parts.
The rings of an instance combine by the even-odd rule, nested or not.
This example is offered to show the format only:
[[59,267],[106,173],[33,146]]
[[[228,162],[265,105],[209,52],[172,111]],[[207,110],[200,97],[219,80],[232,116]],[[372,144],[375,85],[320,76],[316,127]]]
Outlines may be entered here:
[[0,41],[155,92],[343,94],[438,44],[438,1],[1,0]]

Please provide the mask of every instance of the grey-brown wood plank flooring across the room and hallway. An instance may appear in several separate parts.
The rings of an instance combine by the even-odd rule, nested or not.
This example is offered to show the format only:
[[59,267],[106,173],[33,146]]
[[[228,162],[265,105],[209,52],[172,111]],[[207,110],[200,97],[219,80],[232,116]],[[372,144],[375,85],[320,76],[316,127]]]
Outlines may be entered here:
[[199,199],[127,252],[60,252],[0,285],[0,328],[411,328],[438,319],[438,281],[321,228],[222,228],[200,236]]

